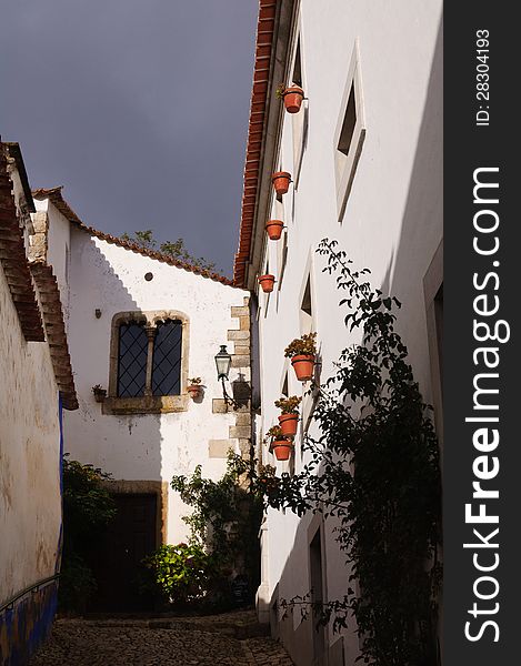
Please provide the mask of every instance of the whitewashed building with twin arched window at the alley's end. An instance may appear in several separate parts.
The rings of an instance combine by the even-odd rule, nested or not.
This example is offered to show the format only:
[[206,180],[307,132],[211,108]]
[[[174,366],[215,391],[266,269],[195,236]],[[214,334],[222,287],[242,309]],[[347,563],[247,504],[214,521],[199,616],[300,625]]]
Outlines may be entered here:
[[[249,292],[227,278],[86,226],[61,189],[34,192],[67,311],[79,408],[66,415],[72,460],[111,474],[118,506],[96,571],[100,609],[139,605],[140,561],[188,539],[173,475],[219,480],[229,450],[250,454]],[[38,229],[37,229],[38,231]],[[231,354],[226,403],[214,356]],[[189,380],[200,377],[192,400]],[[93,389],[106,396],[97,401]]]

